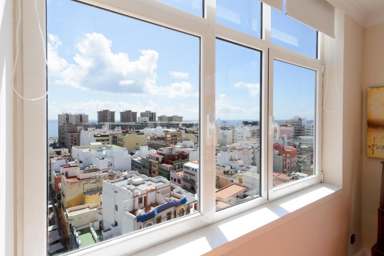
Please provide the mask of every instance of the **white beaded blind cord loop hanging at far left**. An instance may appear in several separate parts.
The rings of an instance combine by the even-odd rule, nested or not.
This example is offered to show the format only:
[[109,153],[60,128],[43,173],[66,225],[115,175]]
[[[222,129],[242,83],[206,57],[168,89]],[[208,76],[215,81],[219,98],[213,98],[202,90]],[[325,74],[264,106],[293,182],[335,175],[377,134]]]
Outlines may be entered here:
[[49,88],[50,88],[50,84],[51,84],[50,83],[50,77],[48,76],[48,73],[47,73],[47,69],[49,68],[49,66],[48,66],[48,60],[47,60],[46,50],[45,50],[44,35],[43,35],[43,31],[41,30],[39,13],[37,11],[37,2],[36,2],[36,0],[35,0],[35,12],[36,12],[37,24],[39,26],[39,31],[40,31],[41,42],[43,44],[44,60],[45,60],[45,64],[46,64],[45,75],[46,75],[46,77],[48,77],[48,88],[47,88],[47,91],[45,92],[45,94],[43,96],[38,97],[38,98],[34,98],[34,99],[29,99],[29,98],[26,98],[26,97],[22,96],[17,91],[17,89],[15,88],[15,73],[16,73],[17,61],[18,61],[18,57],[19,57],[19,29],[20,29],[20,20],[21,20],[21,17],[22,17],[21,0],[18,0],[18,18],[17,18],[17,26],[16,26],[16,56],[15,56],[15,63],[13,64],[12,87],[13,87],[13,91],[15,92],[15,94],[17,96],[19,96],[20,98],[26,100],[26,101],[38,101],[40,99],[43,99],[45,96],[47,96]]

